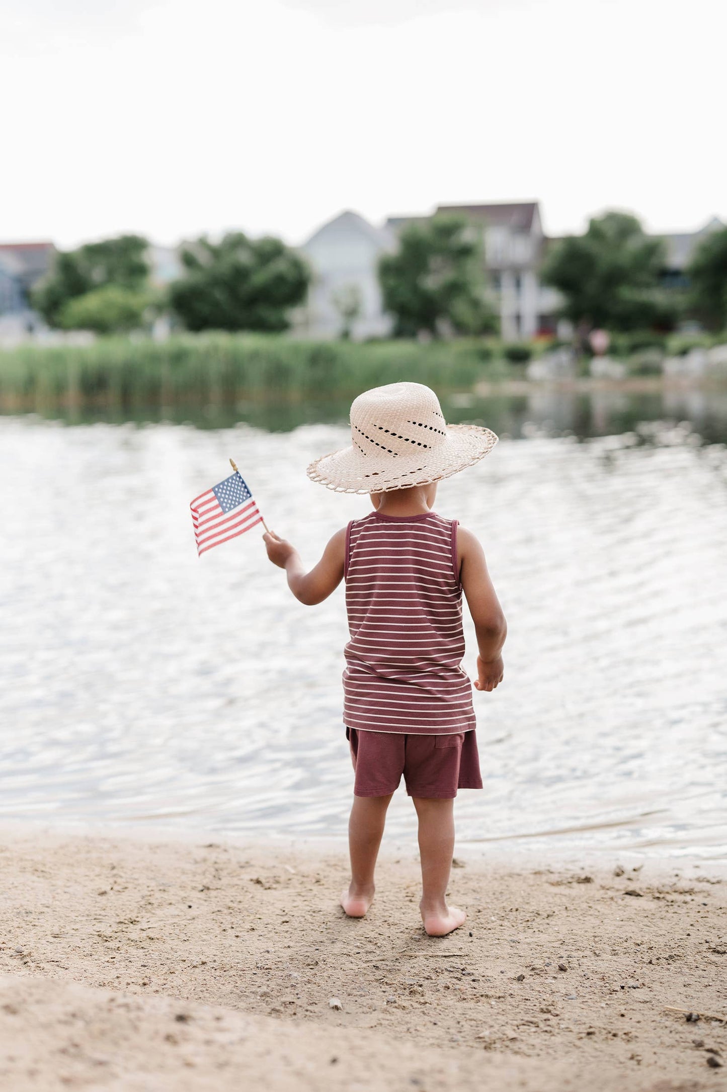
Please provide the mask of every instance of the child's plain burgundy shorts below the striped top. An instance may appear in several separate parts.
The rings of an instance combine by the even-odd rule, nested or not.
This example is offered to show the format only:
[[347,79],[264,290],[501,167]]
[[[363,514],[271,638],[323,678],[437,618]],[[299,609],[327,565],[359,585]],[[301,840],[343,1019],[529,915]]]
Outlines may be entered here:
[[346,728],[355,796],[389,796],[404,783],[409,796],[451,799],[457,788],[481,788],[475,732],[449,736]]

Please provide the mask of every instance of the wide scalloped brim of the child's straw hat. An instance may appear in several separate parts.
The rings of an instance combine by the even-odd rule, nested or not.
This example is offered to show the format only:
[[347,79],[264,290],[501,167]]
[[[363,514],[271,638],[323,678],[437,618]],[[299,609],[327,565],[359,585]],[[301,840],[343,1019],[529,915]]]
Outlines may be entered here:
[[479,425],[448,425],[436,448],[412,455],[364,455],[343,448],[321,455],[307,470],[311,482],[336,492],[389,492],[413,485],[430,485],[473,466],[488,455],[498,437]]

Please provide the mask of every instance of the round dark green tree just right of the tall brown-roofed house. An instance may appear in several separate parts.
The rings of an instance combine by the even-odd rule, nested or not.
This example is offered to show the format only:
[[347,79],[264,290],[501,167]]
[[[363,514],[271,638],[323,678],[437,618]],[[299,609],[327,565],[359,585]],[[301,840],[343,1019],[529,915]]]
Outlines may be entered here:
[[562,314],[576,325],[669,327],[675,305],[658,287],[664,257],[663,240],[646,236],[635,216],[608,212],[593,218],[585,235],[557,244],[540,276],[562,293]]

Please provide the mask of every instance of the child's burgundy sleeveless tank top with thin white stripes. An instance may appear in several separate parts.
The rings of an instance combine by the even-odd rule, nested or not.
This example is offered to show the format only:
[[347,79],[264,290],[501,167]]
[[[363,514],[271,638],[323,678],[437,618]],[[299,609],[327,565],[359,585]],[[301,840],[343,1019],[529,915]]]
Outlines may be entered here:
[[344,723],[448,735],[475,727],[456,520],[371,512],[346,531]]

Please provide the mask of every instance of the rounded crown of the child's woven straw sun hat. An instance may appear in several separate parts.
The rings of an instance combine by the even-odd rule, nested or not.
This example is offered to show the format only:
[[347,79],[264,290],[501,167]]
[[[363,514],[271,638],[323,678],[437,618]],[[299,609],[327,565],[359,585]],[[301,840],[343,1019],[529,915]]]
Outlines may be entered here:
[[422,383],[390,383],[359,394],[350,407],[350,438],[364,455],[416,458],[446,439],[439,399]]

